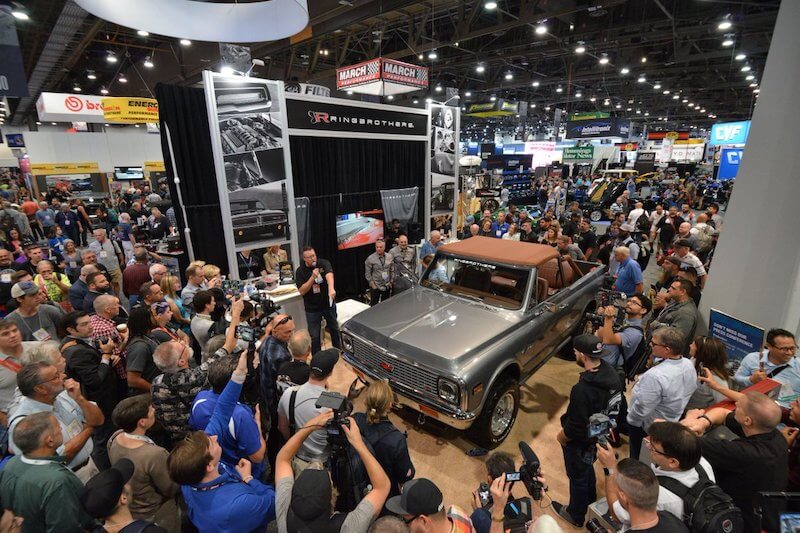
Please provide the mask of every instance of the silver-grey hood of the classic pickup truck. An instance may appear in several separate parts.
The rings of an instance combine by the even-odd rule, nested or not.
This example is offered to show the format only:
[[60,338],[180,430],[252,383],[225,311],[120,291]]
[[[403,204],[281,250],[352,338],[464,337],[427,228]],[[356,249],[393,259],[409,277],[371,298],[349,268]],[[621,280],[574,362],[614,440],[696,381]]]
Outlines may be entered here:
[[391,353],[454,360],[518,321],[513,313],[415,286],[359,313],[344,328]]

